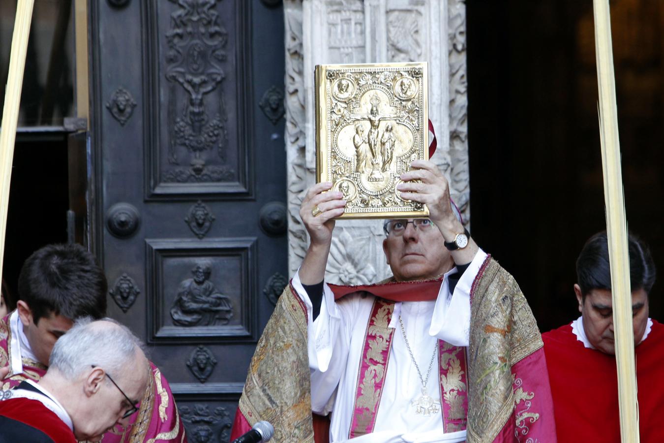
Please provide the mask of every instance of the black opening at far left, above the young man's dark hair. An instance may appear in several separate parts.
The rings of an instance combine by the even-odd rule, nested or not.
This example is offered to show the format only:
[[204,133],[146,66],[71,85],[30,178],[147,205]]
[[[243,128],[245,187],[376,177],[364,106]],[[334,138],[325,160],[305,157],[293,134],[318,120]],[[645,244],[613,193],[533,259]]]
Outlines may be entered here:
[[3,278],[16,294],[23,261],[41,246],[67,241],[64,133],[19,134],[9,191]]

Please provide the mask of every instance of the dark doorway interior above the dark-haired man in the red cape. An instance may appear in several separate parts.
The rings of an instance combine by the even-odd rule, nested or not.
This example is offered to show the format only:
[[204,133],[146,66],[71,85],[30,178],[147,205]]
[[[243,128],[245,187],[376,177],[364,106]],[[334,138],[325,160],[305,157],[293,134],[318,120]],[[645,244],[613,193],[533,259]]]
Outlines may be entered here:
[[[517,278],[547,331],[579,315],[574,262],[606,227],[592,2],[466,8],[473,235]],[[663,274],[664,3],[611,8],[627,221]],[[663,287],[650,297],[657,319]]]

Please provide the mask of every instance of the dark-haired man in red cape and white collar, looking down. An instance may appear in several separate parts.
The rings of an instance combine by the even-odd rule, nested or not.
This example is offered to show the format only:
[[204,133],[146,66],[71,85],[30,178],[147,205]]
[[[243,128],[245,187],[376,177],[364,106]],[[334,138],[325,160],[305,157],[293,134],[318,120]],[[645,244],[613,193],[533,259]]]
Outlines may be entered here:
[[[574,292],[581,316],[542,334],[561,442],[620,442],[618,375],[606,232],[592,236],[576,260]],[[641,442],[664,442],[661,375],[664,326],[648,317],[655,264],[629,236],[629,278]]]

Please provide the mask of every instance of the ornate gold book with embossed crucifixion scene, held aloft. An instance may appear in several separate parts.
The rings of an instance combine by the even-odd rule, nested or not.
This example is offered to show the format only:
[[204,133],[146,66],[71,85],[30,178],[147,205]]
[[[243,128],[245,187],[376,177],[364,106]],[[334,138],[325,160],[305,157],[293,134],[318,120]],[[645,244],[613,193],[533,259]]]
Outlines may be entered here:
[[428,159],[427,94],[424,62],[316,66],[316,179],[345,196],[341,219],[428,217],[396,190]]

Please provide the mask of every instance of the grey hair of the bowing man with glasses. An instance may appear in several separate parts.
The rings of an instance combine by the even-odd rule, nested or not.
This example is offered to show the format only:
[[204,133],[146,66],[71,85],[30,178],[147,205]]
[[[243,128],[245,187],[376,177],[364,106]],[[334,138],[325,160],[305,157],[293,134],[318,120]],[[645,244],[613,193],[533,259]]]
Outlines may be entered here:
[[[114,325],[100,324],[104,321]],[[91,317],[83,317],[56,341],[48,365],[68,380],[76,379],[92,365],[116,375],[133,363],[140,351],[141,341],[125,325],[110,318],[92,321]]]

